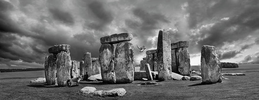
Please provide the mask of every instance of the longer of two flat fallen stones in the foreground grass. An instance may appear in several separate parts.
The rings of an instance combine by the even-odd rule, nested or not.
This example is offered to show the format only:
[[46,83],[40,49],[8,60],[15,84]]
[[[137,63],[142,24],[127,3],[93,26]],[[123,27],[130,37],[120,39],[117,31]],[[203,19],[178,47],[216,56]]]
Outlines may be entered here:
[[125,95],[126,90],[123,88],[116,88],[116,89],[110,89],[110,90],[99,90],[95,91],[94,95],[100,96],[100,97],[121,97]]

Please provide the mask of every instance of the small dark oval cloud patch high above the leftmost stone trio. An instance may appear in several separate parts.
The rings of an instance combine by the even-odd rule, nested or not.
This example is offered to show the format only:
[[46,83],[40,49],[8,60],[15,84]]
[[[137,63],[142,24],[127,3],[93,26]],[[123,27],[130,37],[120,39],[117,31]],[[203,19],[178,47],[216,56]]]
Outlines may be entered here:
[[58,21],[67,23],[69,25],[71,24],[73,25],[75,23],[73,15],[71,15],[69,12],[62,11],[61,9],[58,9],[58,8],[49,9],[49,12],[52,14],[53,18]]

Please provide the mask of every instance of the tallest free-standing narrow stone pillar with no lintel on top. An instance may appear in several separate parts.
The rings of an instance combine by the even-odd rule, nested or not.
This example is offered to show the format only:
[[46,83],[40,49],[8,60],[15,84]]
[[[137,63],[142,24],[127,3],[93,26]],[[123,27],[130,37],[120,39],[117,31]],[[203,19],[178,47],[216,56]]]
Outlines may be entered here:
[[170,33],[160,30],[157,41],[157,65],[161,81],[172,79],[170,44]]

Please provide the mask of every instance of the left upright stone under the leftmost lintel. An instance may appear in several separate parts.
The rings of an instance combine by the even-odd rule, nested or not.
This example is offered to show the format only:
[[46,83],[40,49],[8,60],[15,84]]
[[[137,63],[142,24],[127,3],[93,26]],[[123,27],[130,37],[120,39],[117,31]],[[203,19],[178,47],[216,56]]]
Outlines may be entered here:
[[47,85],[54,85],[56,83],[57,67],[56,61],[58,53],[51,53],[45,59],[45,81]]

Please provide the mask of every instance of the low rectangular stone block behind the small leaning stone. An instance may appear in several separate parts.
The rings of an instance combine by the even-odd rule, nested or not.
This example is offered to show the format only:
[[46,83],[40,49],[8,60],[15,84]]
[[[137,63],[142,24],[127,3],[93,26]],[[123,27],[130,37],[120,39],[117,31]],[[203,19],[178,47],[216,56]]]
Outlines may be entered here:
[[[151,75],[153,79],[158,80],[158,72],[151,71]],[[146,71],[135,71],[134,72],[134,80],[141,80],[142,78],[147,79]]]

